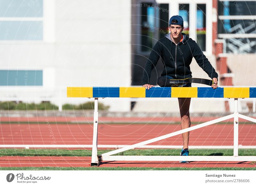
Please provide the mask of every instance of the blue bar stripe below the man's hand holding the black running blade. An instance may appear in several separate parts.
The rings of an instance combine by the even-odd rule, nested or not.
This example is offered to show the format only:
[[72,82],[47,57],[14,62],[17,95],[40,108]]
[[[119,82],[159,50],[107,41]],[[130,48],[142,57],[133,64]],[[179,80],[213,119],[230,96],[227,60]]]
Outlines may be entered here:
[[197,87],[198,98],[223,98],[224,88],[218,87],[213,89],[212,87]]

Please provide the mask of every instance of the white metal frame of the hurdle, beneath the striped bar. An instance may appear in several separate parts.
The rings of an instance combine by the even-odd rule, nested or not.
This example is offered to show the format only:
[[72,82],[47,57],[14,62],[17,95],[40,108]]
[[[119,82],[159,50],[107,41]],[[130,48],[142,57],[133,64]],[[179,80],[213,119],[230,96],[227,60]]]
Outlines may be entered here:
[[[121,153],[142,145],[147,145],[165,138],[170,138],[188,132],[191,130],[199,129],[214,123],[218,123],[230,118],[234,118],[234,155],[233,156],[112,156],[116,153]],[[93,122],[93,141],[92,141],[92,162],[91,166],[99,166],[100,161],[254,161],[256,156],[238,156],[238,118],[256,123],[256,119],[238,113],[238,98],[235,98],[235,110],[233,114],[214,119],[209,122],[201,123],[187,129],[179,130],[159,136],[157,138],[149,139],[134,145],[124,148],[116,149],[108,153],[97,155],[97,141],[98,141],[98,98],[94,100],[94,122]]]

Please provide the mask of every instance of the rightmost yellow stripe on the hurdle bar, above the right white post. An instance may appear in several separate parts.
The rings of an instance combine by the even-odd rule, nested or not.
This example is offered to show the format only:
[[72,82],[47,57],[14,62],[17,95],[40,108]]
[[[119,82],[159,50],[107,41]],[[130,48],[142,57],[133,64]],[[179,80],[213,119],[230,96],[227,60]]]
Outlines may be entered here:
[[249,98],[249,87],[224,87],[224,98]]

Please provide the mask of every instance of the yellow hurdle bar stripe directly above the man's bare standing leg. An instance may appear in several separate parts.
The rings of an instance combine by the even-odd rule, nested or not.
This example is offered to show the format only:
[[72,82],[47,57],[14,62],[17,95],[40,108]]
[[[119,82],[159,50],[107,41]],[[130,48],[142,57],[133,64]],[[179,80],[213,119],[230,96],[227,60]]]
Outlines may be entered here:
[[197,98],[197,87],[172,87],[172,98]]

